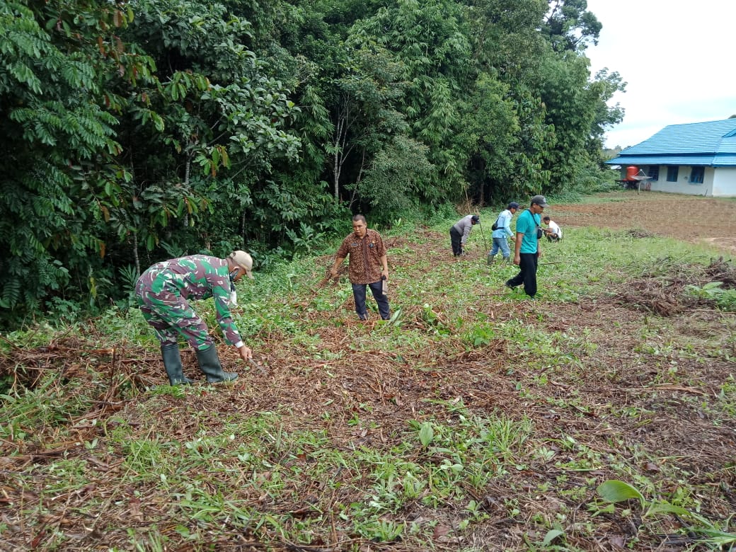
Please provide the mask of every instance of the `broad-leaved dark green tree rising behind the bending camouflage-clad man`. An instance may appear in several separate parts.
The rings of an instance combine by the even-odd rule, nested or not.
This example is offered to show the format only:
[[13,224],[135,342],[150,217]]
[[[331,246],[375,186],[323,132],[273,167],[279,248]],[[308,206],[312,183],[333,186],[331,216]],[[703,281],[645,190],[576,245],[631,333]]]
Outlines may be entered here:
[[252,185],[274,160],[297,159],[290,91],[243,45],[250,23],[222,4],[144,0],[136,8],[127,38],[145,44],[158,66],[158,82],[138,93],[124,129],[133,212],[146,213],[132,219],[144,233],[137,238],[147,250],[163,239],[202,247],[208,225],[222,226],[215,211],[231,235],[243,234]]

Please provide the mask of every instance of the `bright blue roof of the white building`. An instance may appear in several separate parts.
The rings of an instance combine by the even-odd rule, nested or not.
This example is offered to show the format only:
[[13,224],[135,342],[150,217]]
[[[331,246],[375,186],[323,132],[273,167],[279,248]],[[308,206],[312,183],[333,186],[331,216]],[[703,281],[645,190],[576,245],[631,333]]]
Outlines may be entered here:
[[736,118],[728,118],[670,124],[606,164],[736,166],[735,154]]

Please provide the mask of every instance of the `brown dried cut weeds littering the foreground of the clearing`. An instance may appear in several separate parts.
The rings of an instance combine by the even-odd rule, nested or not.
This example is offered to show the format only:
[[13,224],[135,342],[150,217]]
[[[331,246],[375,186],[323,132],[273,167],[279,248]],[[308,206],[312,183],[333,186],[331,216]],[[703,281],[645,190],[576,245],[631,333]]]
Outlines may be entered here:
[[[447,249],[444,235],[428,232],[423,238],[420,244],[397,240],[390,247],[401,247],[407,262]],[[470,261],[478,259],[448,262]],[[411,277],[434,271],[432,263],[417,263]],[[351,530],[340,514],[346,505],[369,500],[366,489],[375,485],[375,473],[330,464],[321,454],[330,450],[344,458],[372,451],[389,458],[406,450],[410,420],[459,427],[467,416],[508,420],[519,431],[509,436],[520,439],[518,456],[504,459],[503,470],[480,488],[462,486],[464,500],[429,506],[420,497],[385,512],[383,523],[431,528],[436,550],[528,550],[553,524],[562,528],[570,549],[694,549],[696,535],[682,532],[687,520],[668,516],[650,530],[633,504],[629,515],[596,513],[595,495],[585,489],[626,471],[637,474],[637,481],[651,481],[644,489],[648,496],[676,495],[678,486],[696,488],[698,514],[708,519],[726,523],[736,511],[736,436],[714,407],[718,397],[728,400],[729,394],[736,403],[733,383],[728,386],[734,366],[727,360],[736,357],[736,322],[712,301],[684,293],[687,286],[708,281],[732,289],[735,280],[732,265],[720,259],[700,269],[686,263],[667,270],[659,266],[577,302],[475,298],[472,308],[492,324],[508,322],[548,336],[548,354],[500,332],[469,347],[452,334],[453,317],[439,308],[428,313],[413,305],[397,322],[407,334],[437,334],[428,339],[430,346],[407,342],[389,349],[382,345],[381,322],[300,308],[307,337],[263,333],[256,367],[219,347],[224,369],[241,375],[235,383],[205,386],[194,355],[183,351],[185,375],[198,383],[180,394],[154,391],[166,383],[158,354],[127,343],[100,347],[105,336],[93,328],[43,347],[10,347],[0,358],[0,377],[14,378],[16,390],[35,389],[39,408],[47,410],[29,416],[40,420],[35,427],[5,422],[0,550],[43,550],[58,534],[69,551],[128,550],[131,535],[155,544],[158,534],[167,539],[160,549],[177,551],[417,550],[409,535],[376,542]],[[324,285],[330,281],[325,277]],[[439,336],[448,329],[449,336]],[[351,347],[356,333],[369,344]],[[319,345],[310,348],[310,343]],[[224,497],[222,509],[232,516],[240,508],[289,520],[291,533],[269,523],[248,526],[230,514],[210,523],[205,508],[214,506],[204,502],[202,517],[192,519],[193,506],[186,505],[197,503],[197,497],[177,489],[180,494],[172,498],[162,478],[167,467],[156,464],[155,446],[174,447],[181,458],[208,458],[208,445],[198,441],[203,432],[226,435],[233,420],[271,415],[282,436],[319,434],[324,440],[286,450],[279,435],[253,429],[228,438],[230,445],[212,456],[218,463],[177,463],[183,470],[177,477],[206,481],[201,496]],[[523,424],[531,428],[528,435],[519,430]],[[264,461],[238,461],[233,452],[238,444],[259,439]],[[135,448],[146,442],[154,448]],[[452,459],[451,450],[418,442],[401,458],[434,467]],[[272,470],[263,467],[266,461]],[[56,475],[51,467],[57,464],[83,470]],[[203,467],[212,471],[203,474]],[[300,478],[283,492],[268,492],[264,489],[275,488],[277,468]],[[316,473],[317,468],[325,471]],[[471,500],[482,516],[461,530]],[[26,512],[37,517],[28,519]],[[191,541],[188,531],[197,527],[204,532]],[[299,527],[319,531],[300,544],[293,537]]]

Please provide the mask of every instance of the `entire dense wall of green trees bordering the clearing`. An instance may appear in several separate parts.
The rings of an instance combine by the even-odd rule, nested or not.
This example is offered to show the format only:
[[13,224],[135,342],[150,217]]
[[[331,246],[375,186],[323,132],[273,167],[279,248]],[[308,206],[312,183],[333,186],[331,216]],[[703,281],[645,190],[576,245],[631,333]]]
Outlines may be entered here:
[[620,121],[584,0],[3,0],[1,323],[149,263],[261,266],[384,222],[562,192]]

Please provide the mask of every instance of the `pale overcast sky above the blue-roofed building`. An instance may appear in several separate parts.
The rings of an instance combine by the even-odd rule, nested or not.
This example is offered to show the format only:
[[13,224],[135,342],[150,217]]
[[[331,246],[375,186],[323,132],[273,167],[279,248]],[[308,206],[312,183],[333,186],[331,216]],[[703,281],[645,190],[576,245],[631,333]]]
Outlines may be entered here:
[[736,114],[735,0],[587,0],[603,25],[590,44],[590,72],[618,71],[623,121],[605,146],[645,141],[668,124]]

